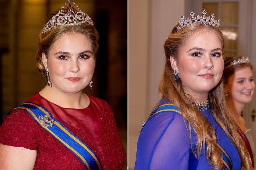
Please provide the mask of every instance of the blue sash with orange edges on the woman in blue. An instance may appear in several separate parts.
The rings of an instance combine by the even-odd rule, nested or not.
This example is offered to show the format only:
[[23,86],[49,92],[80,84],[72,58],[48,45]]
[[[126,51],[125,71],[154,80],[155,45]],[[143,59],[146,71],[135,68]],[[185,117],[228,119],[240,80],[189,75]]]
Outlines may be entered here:
[[[168,104],[163,104],[163,105],[160,105],[160,106],[156,107],[156,109],[154,109],[154,111],[152,111],[151,115],[148,117],[148,120],[152,116],[154,116],[158,113],[162,113],[164,111],[173,111],[173,112],[176,112],[176,113],[182,115],[184,118],[186,118],[186,116],[183,115],[183,113],[181,113],[180,108],[178,106],[168,103]],[[146,124],[146,122],[144,122],[142,124],[142,127]],[[233,164],[232,164],[232,161],[231,161],[230,157],[228,156],[228,154],[224,151],[224,149],[218,143],[217,143],[217,145],[220,149],[220,152],[222,153],[222,157],[220,157],[220,159],[222,160],[223,164],[228,168],[228,170],[233,170]]]

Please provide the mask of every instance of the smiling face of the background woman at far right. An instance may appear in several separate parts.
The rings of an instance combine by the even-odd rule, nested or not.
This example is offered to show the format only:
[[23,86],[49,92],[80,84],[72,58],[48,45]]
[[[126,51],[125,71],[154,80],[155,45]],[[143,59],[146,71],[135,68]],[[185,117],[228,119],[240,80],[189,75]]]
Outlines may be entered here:
[[255,83],[250,67],[242,67],[236,70],[228,78],[226,90],[228,98],[236,104],[246,104],[251,102]]

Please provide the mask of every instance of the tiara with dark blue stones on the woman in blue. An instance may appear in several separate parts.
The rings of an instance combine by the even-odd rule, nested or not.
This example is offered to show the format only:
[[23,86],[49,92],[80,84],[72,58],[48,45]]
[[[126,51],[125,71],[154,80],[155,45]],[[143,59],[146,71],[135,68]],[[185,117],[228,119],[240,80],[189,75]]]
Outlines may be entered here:
[[203,16],[197,16],[194,17],[195,13],[192,11],[190,13],[191,18],[187,18],[186,20],[184,20],[184,16],[181,16],[180,19],[182,19],[182,21],[179,21],[179,25],[177,27],[178,31],[180,31],[182,28],[187,27],[188,25],[192,25],[192,24],[196,24],[196,23],[201,23],[201,24],[208,24],[208,25],[212,25],[214,27],[218,27],[220,28],[220,20],[215,20],[214,19],[214,14],[212,14],[212,17],[208,16],[206,17],[205,14],[207,13],[206,10],[203,10],[202,12],[204,15]]

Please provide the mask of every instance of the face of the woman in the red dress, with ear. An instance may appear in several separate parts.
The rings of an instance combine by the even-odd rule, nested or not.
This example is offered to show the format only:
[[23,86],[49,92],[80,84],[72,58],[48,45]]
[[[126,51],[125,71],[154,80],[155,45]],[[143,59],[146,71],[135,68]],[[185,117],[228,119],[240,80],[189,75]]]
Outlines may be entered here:
[[52,89],[77,93],[91,81],[95,60],[92,44],[80,33],[65,33],[54,42],[48,56],[42,53],[44,67],[48,67]]

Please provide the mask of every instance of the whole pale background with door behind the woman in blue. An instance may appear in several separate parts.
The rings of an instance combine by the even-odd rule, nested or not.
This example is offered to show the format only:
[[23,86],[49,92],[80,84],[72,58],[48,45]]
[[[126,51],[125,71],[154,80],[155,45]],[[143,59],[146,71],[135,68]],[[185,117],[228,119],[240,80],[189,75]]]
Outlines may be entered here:
[[[196,16],[205,9],[221,20],[224,57],[249,57],[256,75],[256,0],[129,0],[129,162],[134,169],[136,146],[142,122],[159,101],[158,84],[164,68],[164,42],[180,16]],[[256,140],[253,119],[256,97],[243,110],[246,127]],[[150,139],[148,139],[150,140]]]

